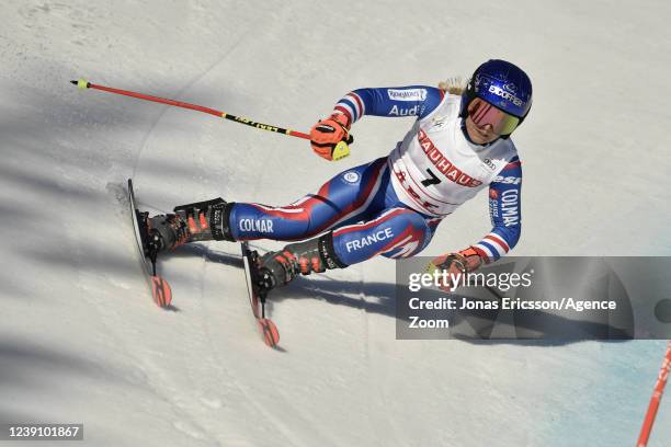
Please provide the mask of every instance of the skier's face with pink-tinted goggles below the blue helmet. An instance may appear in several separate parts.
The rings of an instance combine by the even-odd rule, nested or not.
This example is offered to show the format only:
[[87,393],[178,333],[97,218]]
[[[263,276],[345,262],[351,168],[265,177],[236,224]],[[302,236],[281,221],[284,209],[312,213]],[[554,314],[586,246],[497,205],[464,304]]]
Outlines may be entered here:
[[501,135],[510,134],[519,123],[518,117],[498,110],[479,98],[468,104],[466,131],[476,145],[487,145]]

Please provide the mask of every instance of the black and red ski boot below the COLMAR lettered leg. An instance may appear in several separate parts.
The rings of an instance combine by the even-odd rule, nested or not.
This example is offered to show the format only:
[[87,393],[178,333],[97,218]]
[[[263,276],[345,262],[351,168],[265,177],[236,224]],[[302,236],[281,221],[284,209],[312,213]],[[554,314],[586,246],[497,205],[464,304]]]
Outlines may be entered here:
[[187,242],[234,241],[228,224],[232,203],[221,198],[174,207],[174,214],[147,219],[148,247],[156,253]]

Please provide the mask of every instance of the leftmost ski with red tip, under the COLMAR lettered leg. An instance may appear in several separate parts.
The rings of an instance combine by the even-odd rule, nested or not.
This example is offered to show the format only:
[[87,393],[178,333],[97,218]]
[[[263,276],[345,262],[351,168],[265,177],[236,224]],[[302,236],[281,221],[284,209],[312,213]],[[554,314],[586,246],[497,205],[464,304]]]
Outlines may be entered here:
[[148,244],[147,217],[148,213],[140,213],[135,205],[135,194],[133,193],[133,181],[128,179],[128,205],[135,230],[135,241],[139,251],[143,271],[151,289],[151,298],[157,306],[163,309],[173,309],[172,289],[166,279],[156,274],[156,250],[150,250]]

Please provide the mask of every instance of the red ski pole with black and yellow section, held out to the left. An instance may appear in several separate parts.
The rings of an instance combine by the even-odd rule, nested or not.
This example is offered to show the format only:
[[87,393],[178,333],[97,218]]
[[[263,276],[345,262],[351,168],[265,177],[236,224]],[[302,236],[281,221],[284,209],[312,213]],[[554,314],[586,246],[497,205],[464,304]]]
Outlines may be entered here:
[[[151,95],[144,94],[144,93],[132,92],[132,91],[128,91],[128,90],[121,90],[121,89],[113,89],[111,87],[98,85],[98,84],[93,84],[93,83],[87,81],[86,79],[80,79],[78,81],[70,81],[70,82],[73,83],[75,85],[77,85],[80,89],[102,90],[102,91],[109,92],[109,93],[116,93],[116,94],[121,94],[121,95],[124,95],[124,96],[137,98],[138,100],[146,100],[146,101],[158,102],[158,103],[161,103],[161,104],[174,105],[175,107],[191,108],[192,111],[208,113],[211,115],[219,116],[219,117],[226,118],[226,119],[230,119],[230,121],[236,122],[236,123],[246,124],[248,126],[255,127],[255,128],[261,129],[261,130],[274,131],[276,134],[284,134],[284,135],[288,135],[291,137],[297,137],[297,138],[303,138],[303,139],[307,139],[307,140],[310,139],[309,135],[304,134],[302,131],[285,129],[285,128],[282,128],[282,127],[278,127],[278,126],[273,126],[273,125],[270,125],[270,124],[258,123],[255,121],[252,121],[252,119],[249,119],[249,118],[244,118],[242,116],[231,115],[229,113],[217,111],[215,108],[204,107],[202,105],[190,104],[190,103],[185,103],[185,102],[181,102],[181,101],[174,101],[174,100],[168,100],[168,99],[164,99],[164,98],[151,96]],[[333,160],[340,160],[340,159],[342,159],[342,158],[344,158],[344,157],[346,157],[349,154],[350,154],[350,147],[348,146],[346,141],[340,141],[338,145],[336,145],[336,148],[333,150]]]

